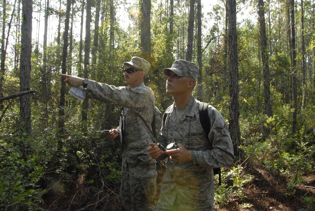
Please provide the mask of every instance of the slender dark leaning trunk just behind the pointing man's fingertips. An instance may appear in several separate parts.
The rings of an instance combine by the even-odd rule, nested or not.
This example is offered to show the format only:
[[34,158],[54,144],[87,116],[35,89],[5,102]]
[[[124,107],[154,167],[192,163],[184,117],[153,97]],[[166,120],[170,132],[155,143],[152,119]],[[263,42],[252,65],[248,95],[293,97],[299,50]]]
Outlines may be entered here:
[[[63,33],[63,47],[62,47],[62,74],[67,74],[67,50],[68,50],[68,33],[69,33],[69,22],[70,22],[70,9],[71,9],[71,0],[67,0],[66,8],[66,19],[65,19],[65,32]],[[59,103],[59,133],[64,134],[65,120],[64,120],[64,109],[65,106],[65,95],[66,95],[66,83],[63,82],[64,77],[61,77],[61,90],[60,90],[60,103]],[[59,147],[62,142],[59,143]]]

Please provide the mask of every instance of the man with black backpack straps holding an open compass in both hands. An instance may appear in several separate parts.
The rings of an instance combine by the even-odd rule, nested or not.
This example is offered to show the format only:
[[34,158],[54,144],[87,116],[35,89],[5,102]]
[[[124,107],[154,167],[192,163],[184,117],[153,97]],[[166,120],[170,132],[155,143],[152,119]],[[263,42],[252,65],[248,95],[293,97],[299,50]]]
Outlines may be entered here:
[[158,142],[167,146],[175,140],[178,148],[162,151],[154,143],[148,148],[153,159],[168,157],[156,210],[212,210],[212,169],[229,166],[234,159],[230,134],[221,113],[209,105],[210,142],[205,136],[199,120],[200,101],[192,96],[198,76],[195,63],[176,60],[163,74],[168,77],[166,93],[173,96],[174,104],[165,111]]

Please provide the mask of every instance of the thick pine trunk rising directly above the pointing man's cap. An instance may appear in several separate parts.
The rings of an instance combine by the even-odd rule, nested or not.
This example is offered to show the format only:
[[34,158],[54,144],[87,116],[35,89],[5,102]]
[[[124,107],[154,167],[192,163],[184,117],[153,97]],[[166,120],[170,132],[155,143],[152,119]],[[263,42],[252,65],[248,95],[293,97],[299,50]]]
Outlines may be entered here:
[[151,0],[143,0],[140,8],[140,37],[142,58],[151,62]]

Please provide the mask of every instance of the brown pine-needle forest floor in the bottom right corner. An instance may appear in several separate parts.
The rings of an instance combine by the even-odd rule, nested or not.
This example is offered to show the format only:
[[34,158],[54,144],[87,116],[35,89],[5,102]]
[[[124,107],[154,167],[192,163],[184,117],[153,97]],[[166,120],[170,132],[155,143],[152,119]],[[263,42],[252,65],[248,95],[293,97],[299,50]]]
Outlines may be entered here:
[[[314,211],[315,173],[302,176],[301,185],[288,188],[288,180],[282,175],[259,168],[250,168],[247,173],[254,176],[246,184],[243,200],[230,200],[225,208],[215,206],[218,211]],[[293,194],[290,194],[294,192]],[[303,200],[305,198],[305,200]],[[307,203],[307,199],[310,201]]]

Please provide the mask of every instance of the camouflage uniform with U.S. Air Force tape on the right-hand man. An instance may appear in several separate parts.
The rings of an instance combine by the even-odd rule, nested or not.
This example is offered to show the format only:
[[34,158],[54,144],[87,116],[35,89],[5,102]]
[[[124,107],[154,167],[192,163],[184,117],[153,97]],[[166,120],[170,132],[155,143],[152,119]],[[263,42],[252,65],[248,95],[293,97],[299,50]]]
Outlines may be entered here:
[[[174,202],[173,210],[212,210],[212,169],[226,167],[233,162],[233,145],[221,113],[209,105],[209,142],[200,124],[199,103],[192,96],[178,120],[174,104],[165,111],[164,115],[169,115],[163,125],[162,135],[159,136],[159,143],[166,146],[174,142],[170,138],[173,137],[177,144],[183,144],[191,151],[192,161],[176,163],[168,160],[156,210],[171,210],[169,208]],[[163,159],[163,155],[160,158]]]

